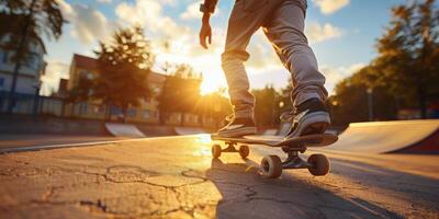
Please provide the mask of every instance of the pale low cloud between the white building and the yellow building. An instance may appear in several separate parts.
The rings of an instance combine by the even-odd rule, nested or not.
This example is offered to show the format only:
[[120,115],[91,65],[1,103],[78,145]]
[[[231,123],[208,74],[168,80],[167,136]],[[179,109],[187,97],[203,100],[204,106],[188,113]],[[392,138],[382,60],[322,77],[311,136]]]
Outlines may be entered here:
[[67,79],[69,77],[69,65],[56,61],[48,60],[46,72],[42,76],[42,94],[49,95],[52,92],[58,90],[59,80]]

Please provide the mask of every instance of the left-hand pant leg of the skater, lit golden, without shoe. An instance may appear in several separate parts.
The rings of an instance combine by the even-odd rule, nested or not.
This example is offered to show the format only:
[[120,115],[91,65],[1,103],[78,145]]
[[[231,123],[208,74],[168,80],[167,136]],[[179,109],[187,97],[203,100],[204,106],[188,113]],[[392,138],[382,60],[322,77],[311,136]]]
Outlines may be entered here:
[[249,92],[244,61],[249,58],[248,43],[262,25],[271,4],[272,0],[238,0],[232,10],[222,67],[236,117],[254,116],[255,96]]

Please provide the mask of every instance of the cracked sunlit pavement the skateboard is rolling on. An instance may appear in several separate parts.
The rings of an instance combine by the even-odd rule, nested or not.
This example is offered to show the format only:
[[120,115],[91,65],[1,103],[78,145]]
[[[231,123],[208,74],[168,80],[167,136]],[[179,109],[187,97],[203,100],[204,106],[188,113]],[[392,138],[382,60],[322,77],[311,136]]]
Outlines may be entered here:
[[209,135],[4,153],[1,218],[439,218],[439,157],[323,152],[324,177],[258,164],[280,149],[212,159]]

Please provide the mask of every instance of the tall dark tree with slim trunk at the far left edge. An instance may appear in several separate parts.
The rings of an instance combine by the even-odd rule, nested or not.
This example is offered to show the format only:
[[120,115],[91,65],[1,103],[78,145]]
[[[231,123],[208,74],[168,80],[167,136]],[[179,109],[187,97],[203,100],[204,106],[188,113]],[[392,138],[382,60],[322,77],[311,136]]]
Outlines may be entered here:
[[[13,21],[13,22],[12,22]],[[43,44],[43,34],[59,38],[66,23],[56,0],[0,0],[1,48],[14,50],[8,113],[12,113],[20,68],[27,61],[33,45]]]

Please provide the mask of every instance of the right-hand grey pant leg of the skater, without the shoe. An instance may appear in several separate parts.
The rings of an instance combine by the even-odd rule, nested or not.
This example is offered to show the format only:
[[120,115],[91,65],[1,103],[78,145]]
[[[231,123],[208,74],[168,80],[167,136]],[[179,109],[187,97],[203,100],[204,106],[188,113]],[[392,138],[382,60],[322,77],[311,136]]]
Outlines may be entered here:
[[292,73],[294,105],[317,97],[327,99],[325,77],[304,35],[306,0],[285,0],[271,13],[263,32],[271,41],[283,65]]

